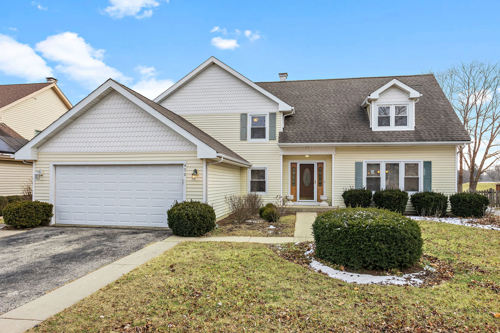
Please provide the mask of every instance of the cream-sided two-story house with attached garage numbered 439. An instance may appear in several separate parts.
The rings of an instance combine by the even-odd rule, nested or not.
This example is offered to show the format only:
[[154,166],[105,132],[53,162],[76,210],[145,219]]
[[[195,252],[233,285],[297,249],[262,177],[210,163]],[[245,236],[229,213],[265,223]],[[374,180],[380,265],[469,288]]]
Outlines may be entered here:
[[469,142],[431,74],[255,83],[211,57],[154,102],[109,79],[15,157],[41,170],[54,223],[165,227],[175,200],[220,219],[249,191],[340,207],[350,187],[454,193]]

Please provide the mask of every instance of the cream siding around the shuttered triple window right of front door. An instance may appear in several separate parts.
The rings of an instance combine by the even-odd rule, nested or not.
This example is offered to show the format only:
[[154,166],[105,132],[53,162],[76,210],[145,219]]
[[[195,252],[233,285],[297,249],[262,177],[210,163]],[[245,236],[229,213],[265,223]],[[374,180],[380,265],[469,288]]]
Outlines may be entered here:
[[[354,186],[354,162],[371,159],[432,161],[432,190],[455,193],[455,146],[337,147],[333,205],[345,207],[342,192]],[[407,209],[412,210],[411,205]]]

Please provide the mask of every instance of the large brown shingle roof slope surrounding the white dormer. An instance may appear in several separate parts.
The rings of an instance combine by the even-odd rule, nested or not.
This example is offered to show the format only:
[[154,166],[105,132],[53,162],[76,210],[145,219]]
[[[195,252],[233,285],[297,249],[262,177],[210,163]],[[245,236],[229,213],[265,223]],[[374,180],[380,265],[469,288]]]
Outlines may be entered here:
[[[414,131],[372,131],[362,101],[393,78],[418,90]],[[469,141],[433,74],[256,82],[295,108],[279,143]]]

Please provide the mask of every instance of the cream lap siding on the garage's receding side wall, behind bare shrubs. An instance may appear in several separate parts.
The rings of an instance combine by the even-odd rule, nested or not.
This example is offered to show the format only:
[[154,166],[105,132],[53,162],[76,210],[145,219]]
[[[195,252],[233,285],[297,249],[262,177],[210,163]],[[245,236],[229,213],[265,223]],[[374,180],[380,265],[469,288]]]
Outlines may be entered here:
[[240,195],[240,167],[217,163],[208,166],[208,203],[217,219],[229,214],[225,196]]

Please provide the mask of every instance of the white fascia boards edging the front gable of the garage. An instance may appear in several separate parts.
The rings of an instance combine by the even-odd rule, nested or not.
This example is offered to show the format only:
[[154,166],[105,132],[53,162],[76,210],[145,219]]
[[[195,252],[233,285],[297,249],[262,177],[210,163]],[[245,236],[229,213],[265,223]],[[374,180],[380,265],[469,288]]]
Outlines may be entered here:
[[[89,102],[97,98],[101,93],[103,93],[109,88],[112,88],[116,92],[120,93],[121,95],[129,99],[132,103],[137,105],[139,108],[148,112],[153,118],[155,118],[159,122],[164,123],[174,132],[176,132],[177,134],[185,138],[187,141],[195,145],[198,158],[213,158],[217,156],[217,152],[215,151],[215,149],[211,148],[206,143],[199,140],[194,135],[192,135],[191,133],[189,133],[188,131],[186,131],[185,129],[183,129],[182,127],[180,127],[179,125],[177,125],[176,123],[174,123],[173,121],[171,121],[170,119],[168,119],[167,117],[165,117],[164,115],[162,115],[161,113],[159,113],[158,111],[156,111],[155,109],[144,103],[142,100],[132,95],[125,88],[123,88],[113,80],[108,79],[106,82],[101,84],[97,89],[92,91],[87,97],[83,98],[73,108],[71,108],[69,111],[64,113],[57,120],[55,120],[52,124],[50,124],[47,128],[45,128],[41,133],[36,135],[33,139],[31,139],[19,150],[17,150],[15,152],[15,158],[19,160],[33,160],[34,158],[33,156],[31,156],[32,148],[37,148],[38,147],[37,144],[40,141],[42,141],[46,137],[50,137],[51,134],[65,121],[70,120],[70,118],[73,117],[76,113],[78,113],[78,111],[87,106]],[[76,117],[74,119],[76,119]]]

